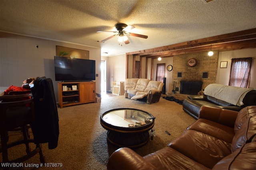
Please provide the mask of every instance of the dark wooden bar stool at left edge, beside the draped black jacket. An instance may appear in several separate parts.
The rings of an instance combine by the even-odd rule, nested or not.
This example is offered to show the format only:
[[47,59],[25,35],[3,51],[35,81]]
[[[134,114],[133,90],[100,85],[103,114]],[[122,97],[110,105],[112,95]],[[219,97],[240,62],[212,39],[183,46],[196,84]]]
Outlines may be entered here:
[[[32,151],[29,147],[29,143],[34,143],[34,140],[28,139],[27,135],[27,125],[34,121],[34,99],[31,97],[32,94],[0,96],[0,101],[2,100],[0,103],[0,135],[2,145],[0,152],[2,152],[3,162],[24,162],[37,153],[40,155],[40,162],[45,162],[44,155],[42,153],[42,145],[40,143],[36,143],[36,148]],[[13,143],[8,143],[8,132],[19,127],[22,129],[23,139],[14,141]],[[27,154],[14,160],[9,160],[8,149],[21,144],[26,145]]]

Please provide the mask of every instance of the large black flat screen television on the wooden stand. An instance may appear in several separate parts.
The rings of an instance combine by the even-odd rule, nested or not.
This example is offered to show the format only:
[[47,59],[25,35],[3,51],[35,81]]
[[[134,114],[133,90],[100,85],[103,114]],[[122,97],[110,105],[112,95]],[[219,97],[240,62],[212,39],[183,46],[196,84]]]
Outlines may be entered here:
[[54,67],[56,81],[95,80],[95,60],[54,56]]

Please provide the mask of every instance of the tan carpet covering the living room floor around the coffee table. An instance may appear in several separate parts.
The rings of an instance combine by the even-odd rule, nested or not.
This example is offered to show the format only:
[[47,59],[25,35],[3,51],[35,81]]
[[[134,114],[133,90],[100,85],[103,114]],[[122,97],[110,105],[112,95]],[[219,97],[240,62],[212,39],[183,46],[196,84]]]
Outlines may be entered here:
[[[46,162],[62,163],[62,168],[39,168],[41,170],[106,170],[109,156],[118,149],[107,143],[107,131],[100,125],[100,115],[105,111],[115,108],[136,108],[151,113],[156,117],[154,128],[156,137],[143,147],[134,149],[144,156],[163,147],[178,137],[188,125],[195,121],[182,110],[182,105],[160,98],[160,102],[146,104],[145,102],[129,100],[124,96],[103,98],[101,103],[82,104],[78,106],[58,108],[60,136],[58,147],[48,149],[43,144]],[[167,135],[165,131],[171,135]],[[10,139],[17,138],[17,132],[10,134]],[[21,147],[20,147],[21,148]],[[10,150],[12,155],[22,153]],[[0,161],[2,155],[0,156]],[[27,163],[40,164],[36,155]],[[17,169],[17,168],[15,168]],[[31,170],[36,168],[19,168]]]

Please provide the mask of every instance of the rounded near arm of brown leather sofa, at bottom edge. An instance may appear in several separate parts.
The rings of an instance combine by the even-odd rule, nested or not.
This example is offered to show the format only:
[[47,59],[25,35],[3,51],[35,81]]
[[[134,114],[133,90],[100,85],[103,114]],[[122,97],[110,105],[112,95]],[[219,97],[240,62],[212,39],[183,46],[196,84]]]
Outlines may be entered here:
[[109,158],[108,170],[155,170],[157,169],[142,156],[129,148],[116,150]]

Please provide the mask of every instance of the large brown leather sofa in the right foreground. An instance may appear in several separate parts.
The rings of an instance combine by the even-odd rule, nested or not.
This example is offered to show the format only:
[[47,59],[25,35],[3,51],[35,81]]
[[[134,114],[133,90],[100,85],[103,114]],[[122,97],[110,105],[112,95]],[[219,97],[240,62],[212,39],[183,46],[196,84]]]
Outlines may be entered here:
[[116,150],[108,170],[255,170],[256,106],[239,112],[202,106],[199,119],[167,147],[144,157]]

